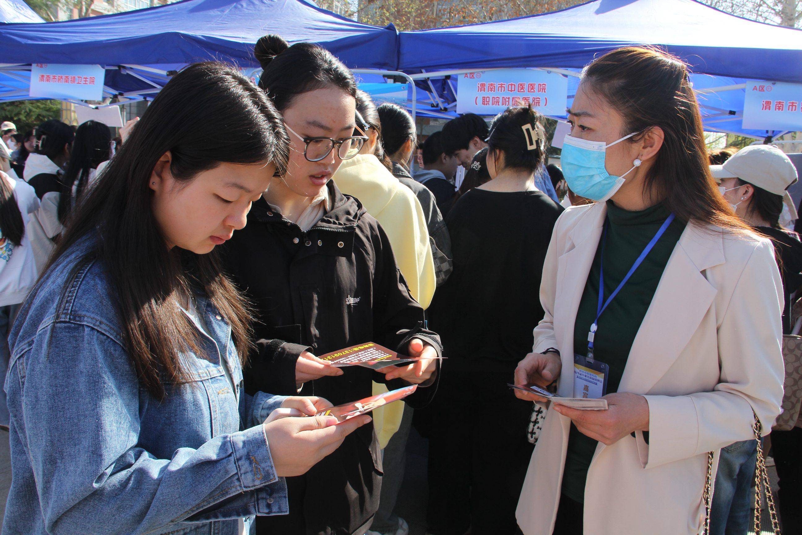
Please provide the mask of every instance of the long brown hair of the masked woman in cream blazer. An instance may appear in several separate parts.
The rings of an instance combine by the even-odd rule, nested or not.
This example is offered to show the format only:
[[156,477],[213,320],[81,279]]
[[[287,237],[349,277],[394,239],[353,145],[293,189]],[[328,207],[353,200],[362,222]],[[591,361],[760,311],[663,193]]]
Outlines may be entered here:
[[643,193],[662,201],[680,221],[746,230],[719,194],[710,173],[702,116],[687,65],[654,47],[624,47],[594,59],[581,87],[622,116],[620,133],[663,132],[662,147],[644,179]]

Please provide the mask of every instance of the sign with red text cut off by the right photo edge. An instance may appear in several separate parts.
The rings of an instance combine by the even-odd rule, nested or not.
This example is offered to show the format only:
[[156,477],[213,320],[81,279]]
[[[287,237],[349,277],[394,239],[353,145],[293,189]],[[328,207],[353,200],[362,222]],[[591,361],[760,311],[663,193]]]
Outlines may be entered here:
[[747,82],[743,128],[802,130],[802,84]]

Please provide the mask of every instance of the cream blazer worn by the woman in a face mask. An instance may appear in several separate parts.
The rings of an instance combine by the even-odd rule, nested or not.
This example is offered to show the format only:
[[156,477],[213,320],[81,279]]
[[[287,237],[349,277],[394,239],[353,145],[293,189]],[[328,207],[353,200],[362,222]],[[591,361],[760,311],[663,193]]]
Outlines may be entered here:
[[[605,203],[557,220],[541,282],[533,351],[561,351],[557,392],[573,395],[573,326]],[[641,432],[599,444],[585,487],[585,535],[682,535],[702,529],[707,452],[766,433],[780,413],[783,290],[774,249],[755,234],[687,225],[634,338],[618,391],[649,403]],[[517,509],[526,535],[553,531],[570,420],[547,411]],[[558,535],[558,534],[555,534]]]

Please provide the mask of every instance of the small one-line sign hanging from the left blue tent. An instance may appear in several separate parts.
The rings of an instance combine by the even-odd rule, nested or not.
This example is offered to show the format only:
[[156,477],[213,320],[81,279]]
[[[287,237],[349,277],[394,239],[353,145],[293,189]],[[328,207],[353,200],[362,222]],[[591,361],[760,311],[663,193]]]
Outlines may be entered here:
[[30,96],[49,99],[102,100],[106,70],[99,65],[34,63]]

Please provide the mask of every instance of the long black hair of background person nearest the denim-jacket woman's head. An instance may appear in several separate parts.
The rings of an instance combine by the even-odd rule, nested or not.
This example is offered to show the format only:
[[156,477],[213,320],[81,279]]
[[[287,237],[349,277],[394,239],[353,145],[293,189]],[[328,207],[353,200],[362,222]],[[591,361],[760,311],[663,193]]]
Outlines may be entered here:
[[75,201],[83,193],[89,180],[89,170],[108,160],[111,148],[111,130],[103,123],[87,121],[75,132],[70,163],[59,180],[59,221],[64,223],[72,209],[72,189],[75,187]]

